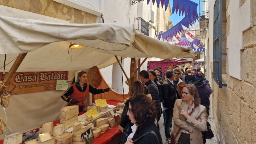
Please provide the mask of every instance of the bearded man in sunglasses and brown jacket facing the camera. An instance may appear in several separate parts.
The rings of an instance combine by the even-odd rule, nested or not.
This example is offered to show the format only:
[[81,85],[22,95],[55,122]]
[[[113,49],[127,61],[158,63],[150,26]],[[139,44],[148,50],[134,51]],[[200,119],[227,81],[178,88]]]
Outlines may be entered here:
[[182,91],[183,87],[185,86],[185,83],[180,79],[181,71],[177,68],[175,68],[173,71],[174,71],[174,77],[173,77],[173,81],[172,81],[173,86],[177,90],[179,97],[181,98],[182,97],[181,91]]

